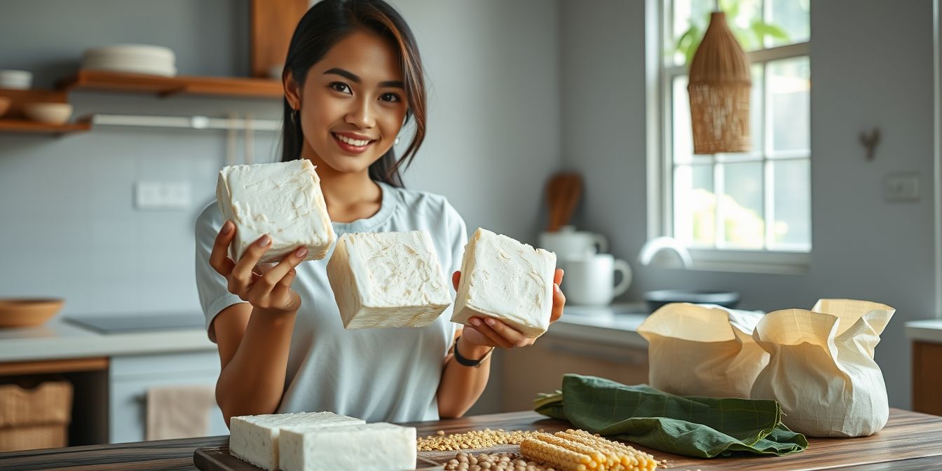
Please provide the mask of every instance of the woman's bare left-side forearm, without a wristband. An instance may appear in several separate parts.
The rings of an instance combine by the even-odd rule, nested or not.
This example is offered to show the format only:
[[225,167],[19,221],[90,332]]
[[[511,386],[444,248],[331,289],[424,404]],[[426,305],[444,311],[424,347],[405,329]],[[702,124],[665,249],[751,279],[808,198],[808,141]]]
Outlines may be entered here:
[[235,415],[273,414],[278,408],[296,316],[252,309],[238,349],[216,382],[226,424]]

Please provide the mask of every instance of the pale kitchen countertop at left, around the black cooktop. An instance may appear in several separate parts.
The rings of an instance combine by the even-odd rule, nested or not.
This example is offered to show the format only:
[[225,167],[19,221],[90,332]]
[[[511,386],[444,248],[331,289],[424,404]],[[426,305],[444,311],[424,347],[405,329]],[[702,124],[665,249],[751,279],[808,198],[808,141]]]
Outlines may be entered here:
[[60,317],[25,329],[0,329],[0,363],[216,350],[203,329],[98,333]]

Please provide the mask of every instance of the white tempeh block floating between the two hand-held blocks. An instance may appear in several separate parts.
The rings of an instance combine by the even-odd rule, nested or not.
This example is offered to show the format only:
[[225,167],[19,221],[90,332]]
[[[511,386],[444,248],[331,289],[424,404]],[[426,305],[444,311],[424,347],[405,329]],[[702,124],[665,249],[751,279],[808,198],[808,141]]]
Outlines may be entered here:
[[425,231],[341,235],[327,276],[347,329],[425,327],[451,304]]

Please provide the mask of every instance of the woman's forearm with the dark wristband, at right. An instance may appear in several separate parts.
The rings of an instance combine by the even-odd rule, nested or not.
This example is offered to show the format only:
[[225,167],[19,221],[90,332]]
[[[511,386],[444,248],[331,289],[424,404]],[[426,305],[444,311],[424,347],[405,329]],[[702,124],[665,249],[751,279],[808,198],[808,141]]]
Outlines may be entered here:
[[[492,349],[479,345],[458,342],[456,347],[461,349],[464,358],[477,360],[484,357]],[[452,355],[442,372],[442,381],[439,383],[435,398],[438,399],[438,414],[442,418],[461,417],[474,405],[487,386],[487,379],[491,375],[491,358],[480,363],[479,366],[465,366],[458,363]]]

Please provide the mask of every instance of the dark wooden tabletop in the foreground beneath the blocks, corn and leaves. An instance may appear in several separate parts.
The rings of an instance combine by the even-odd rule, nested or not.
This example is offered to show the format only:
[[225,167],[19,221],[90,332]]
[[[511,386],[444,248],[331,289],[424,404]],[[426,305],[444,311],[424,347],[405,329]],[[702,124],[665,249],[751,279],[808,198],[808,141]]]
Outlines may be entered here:
[[[458,433],[467,430],[546,430],[569,428],[559,420],[546,419],[533,412],[474,415],[451,420],[416,422],[419,436],[436,430]],[[194,471],[193,452],[199,447],[225,445],[227,436],[161,440],[119,445],[50,448],[0,453],[0,469],[66,470],[95,469],[129,471]],[[700,469],[818,470],[842,469],[877,471],[893,469],[942,469],[942,417],[891,409],[884,430],[869,437],[837,439],[812,438],[802,453],[785,457],[743,457],[697,460],[648,450],[658,460],[668,459],[671,470]],[[642,448],[643,449],[643,448]],[[454,456],[454,452],[451,452]]]

